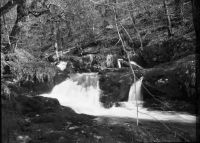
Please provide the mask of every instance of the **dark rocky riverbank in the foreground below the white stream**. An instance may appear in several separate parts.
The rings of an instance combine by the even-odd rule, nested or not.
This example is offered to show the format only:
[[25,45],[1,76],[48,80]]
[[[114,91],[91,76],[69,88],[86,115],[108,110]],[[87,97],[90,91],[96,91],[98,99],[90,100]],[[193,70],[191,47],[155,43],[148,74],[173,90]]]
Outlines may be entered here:
[[195,124],[76,114],[56,99],[17,96],[2,101],[2,141],[127,143],[195,141]]

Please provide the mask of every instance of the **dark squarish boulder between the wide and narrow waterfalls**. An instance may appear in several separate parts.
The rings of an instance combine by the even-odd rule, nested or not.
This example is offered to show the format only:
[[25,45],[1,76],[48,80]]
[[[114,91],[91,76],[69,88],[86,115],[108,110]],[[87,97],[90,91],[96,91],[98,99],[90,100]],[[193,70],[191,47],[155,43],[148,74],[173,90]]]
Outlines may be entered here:
[[[141,71],[135,71],[141,77]],[[105,70],[100,73],[99,86],[102,91],[101,102],[105,107],[121,101],[127,101],[133,76],[129,68]]]

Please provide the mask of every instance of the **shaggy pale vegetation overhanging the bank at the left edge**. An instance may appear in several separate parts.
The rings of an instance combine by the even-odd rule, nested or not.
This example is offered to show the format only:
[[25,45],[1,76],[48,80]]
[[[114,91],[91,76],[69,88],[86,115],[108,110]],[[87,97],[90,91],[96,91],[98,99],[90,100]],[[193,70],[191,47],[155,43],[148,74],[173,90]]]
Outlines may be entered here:
[[[56,75],[56,67],[50,63],[39,61],[22,49],[14,53],[1,53],[1,94],[11,95],[10,87],[21,86],[30,82],[38,84],[52,82]],[[30,84],[29,83],[29,84]],[[12,89],[12,88],[11,88]]]

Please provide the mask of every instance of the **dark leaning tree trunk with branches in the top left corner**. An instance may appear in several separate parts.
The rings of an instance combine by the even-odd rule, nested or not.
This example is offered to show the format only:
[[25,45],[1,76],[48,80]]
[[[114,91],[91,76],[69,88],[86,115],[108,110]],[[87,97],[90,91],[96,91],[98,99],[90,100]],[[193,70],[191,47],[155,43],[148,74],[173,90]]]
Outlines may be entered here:
[[19,34],[23,28],[23,23],[28,21],[29,14],[32,14],[35,17],[39,17],[42,14],[49,12],[47,8],[41,9],[40,11],[34,11],[37,2],[37,0],[9,0],[3,7],[0,8],[0,16],[3,16],[14,6],[17,6],[17,18],[9,35],[9,41],[11,44],[8,43],[5,46],[5,53],[8,53],[9,51],[14,52],[14,47],[16,46],[19,39]]

